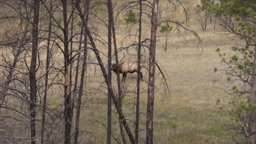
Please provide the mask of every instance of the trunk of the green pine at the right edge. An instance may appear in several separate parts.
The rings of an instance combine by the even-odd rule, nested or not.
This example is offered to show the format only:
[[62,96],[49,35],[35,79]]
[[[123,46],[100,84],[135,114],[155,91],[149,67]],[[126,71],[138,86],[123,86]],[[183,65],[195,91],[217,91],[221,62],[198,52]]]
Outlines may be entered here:
[[[254,65],[256,65],[256,52],[254,52]],[[252,85],[251,85],[251,98],[250,102],[252,105],[256,104],[256,68],[254,67],[252,70]],[[249,115],[249,139],[250,144],[256,143],[256,113],[255,111],[252,111],[252,114]]]

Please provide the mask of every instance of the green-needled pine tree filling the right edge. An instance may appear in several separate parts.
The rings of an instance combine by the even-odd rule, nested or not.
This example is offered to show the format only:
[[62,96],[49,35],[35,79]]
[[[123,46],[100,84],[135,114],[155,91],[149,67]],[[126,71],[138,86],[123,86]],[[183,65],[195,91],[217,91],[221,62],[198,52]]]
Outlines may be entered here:
[[231,87],[234,94],[234,99],[229,102],[231,119],[237,124],[237,131],[244,135],[244,142],[256,143],[256,2],[222,0],[215,4],[214,13],[226,31],[244,41],[244,44],[231,47],[234,55],[221,53],[220,49],[217,52],[227,65],[224,70],[229,75],[227,81],[243,83]]

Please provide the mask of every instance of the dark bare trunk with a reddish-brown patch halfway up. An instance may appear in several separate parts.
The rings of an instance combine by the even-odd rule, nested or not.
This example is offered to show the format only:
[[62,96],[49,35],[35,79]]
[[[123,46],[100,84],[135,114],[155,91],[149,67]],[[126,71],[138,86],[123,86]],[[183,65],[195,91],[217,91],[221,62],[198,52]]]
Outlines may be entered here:
[[64,110],[64,118],[65,118],[65,144],[70,143],[70,133],[71,133],[71,124],[72,124],[72,114],[71,114],[71,96],[69,91],[69,51],[68,51],[68,20],[67,20],[67,1],[62,0],[62,8],[63,8],[63,24],[64,29],[63,35],[64,35],[64,75],[65,75],[65,82],[64,82],[64,104],[65,104],[65,110]]

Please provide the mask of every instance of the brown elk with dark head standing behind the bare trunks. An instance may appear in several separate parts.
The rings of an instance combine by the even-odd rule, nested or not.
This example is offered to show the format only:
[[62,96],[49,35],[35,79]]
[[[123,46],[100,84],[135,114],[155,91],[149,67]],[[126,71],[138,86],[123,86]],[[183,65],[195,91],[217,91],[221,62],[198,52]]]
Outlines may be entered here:
[[[112,64],[112,71],[114,71],[117,74],[117,65],[116,63]],[[127,73],[134,73],[135,71],[138,73],[138,62],[137,61],[122,61],[119,62],[119,72],[120,74],[123,74],[122,82],[125,81],[125,78],[127,76]],[[140,78],[143,82],[143,75],[140,71]]]

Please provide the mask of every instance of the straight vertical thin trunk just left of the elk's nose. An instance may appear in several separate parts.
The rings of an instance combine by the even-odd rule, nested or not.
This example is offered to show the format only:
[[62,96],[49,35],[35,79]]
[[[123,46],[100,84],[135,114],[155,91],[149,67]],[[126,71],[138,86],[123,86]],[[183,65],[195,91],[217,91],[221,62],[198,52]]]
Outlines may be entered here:
[[[108,0],[108,83],[111,86],[111,1]],[[107,125],[107,144],[111,143],[111,94],[108,90],[108,125]]]

